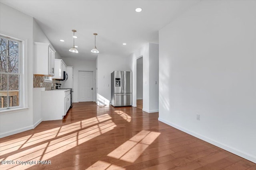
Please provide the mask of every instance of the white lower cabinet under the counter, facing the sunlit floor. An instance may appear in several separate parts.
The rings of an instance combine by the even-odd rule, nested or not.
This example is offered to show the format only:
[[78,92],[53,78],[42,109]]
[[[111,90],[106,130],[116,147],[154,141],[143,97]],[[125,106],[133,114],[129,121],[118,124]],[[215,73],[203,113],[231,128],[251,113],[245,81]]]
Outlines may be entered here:
[[70,90],[42,91],[42,120],[60,120],[71,105]]

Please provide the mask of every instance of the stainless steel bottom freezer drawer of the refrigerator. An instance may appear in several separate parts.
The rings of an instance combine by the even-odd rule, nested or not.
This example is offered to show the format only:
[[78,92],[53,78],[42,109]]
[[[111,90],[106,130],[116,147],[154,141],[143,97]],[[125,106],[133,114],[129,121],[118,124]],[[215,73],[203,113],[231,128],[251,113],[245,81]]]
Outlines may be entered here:
[[113,106],[132,106],[132,94],[114,94]]

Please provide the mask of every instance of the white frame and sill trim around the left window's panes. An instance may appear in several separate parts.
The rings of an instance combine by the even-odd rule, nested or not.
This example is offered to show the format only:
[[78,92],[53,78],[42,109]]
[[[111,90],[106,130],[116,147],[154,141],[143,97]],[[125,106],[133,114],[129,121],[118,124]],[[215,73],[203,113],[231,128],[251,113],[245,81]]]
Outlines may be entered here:
[[[0,34],[0,37],[4,38],[4,39],[7,39],[7,40],[10,40],[10,41],[16,41],[16,42],[19,43],[19,57],[18,57],[19,72],[18,73],[7,73],[7,72],[4,73],[4,74],[15,74],[15,75],[20,76],[20,79],[19,79],[19,106],[0,108],[0,111],[3,112],[3,111],[9,111],[9,110],[11,111],[11,110],[24,108],[24,106],[25,106],[25,104],[24,104],[24,102],[25,102],[25,100],[24,100],[24,66],[23,66],[23,64],[24,64],[24,53],[25,53],[25,50],[24,50],[25,42],[22,41],[21,39],[17,39],[17,38],[14,38],[14,37],[9,37],[9,36],[3,35],[3,34]],[[1,73],[3,73],[3,72],[1,72]],[[7,99],[7,101],[9,101],[9,100]]]

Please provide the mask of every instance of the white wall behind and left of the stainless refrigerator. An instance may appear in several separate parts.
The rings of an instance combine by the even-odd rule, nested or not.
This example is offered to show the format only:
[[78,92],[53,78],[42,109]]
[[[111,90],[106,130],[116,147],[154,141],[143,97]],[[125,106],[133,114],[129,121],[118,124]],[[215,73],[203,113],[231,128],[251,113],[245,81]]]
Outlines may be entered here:
[[[131,71],[132,61],[129,57],[99,54],[97,64],[97,104],[108,105],[111,101],[111,73],[114,70]],[[132,76],[134,76],[134,73],[132,73]],[[133,89],[132,93],[134,93]]]

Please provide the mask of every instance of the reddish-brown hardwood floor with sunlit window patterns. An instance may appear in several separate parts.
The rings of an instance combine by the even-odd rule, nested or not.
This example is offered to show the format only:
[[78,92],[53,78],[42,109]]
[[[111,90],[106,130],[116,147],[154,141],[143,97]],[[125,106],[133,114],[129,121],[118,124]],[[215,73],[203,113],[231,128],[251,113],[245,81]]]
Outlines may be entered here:
[[9,161],[1,170],[256,170],[253,162],[158,121],[158,113],[94,102],[0,139],[0,160]]

